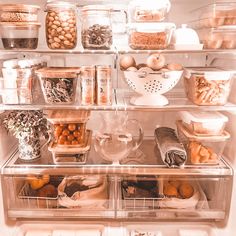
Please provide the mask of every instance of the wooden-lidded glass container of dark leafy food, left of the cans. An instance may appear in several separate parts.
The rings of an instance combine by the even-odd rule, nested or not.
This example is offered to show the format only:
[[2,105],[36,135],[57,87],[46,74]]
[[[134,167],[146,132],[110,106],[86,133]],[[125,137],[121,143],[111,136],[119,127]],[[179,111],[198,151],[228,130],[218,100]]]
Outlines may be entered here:
[[78,67],[44,67],[36,70],[48,104],[72,104],[76,98]]

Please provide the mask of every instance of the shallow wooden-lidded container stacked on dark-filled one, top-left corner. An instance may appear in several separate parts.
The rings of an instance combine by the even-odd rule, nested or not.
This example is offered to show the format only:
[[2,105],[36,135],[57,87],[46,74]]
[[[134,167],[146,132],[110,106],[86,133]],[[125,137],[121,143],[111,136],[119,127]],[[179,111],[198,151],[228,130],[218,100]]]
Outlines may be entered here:
[[36,22],[39,6],[25,4],[0,4],[0,22]]

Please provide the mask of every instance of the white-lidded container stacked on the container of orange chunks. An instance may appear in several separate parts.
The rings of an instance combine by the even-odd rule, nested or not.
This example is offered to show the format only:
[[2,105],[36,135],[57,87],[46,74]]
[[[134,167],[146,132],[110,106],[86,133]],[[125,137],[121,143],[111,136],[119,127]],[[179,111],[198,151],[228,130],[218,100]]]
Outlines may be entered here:
[[180,112],[183,125],[194,135],[210,136],[221,135],[224,131],[228,117],[219,112]]

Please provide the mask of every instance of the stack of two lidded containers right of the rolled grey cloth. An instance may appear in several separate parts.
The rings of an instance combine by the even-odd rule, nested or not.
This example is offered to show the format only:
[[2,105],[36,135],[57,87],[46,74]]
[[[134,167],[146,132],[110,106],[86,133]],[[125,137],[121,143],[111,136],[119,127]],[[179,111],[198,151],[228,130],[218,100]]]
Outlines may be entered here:
[[219,164],[230,134],[225,131],[228,118],[219,112],[180,112],[178,134],[189,161],[197,165]]

